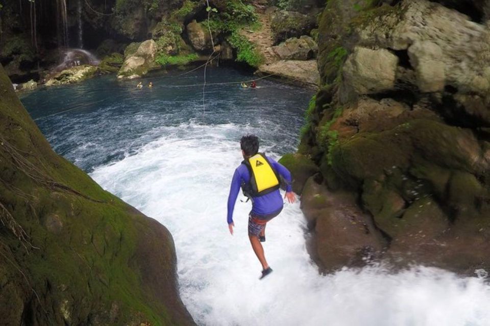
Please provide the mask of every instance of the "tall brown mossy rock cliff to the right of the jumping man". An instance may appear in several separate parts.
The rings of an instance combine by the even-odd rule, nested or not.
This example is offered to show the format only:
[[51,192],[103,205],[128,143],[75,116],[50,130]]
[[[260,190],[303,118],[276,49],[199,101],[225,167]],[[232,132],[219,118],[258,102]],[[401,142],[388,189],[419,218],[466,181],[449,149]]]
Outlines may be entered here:
[[466,3],[328,2],[297,154],[320,170],[302,207],[324,270],[490,267],[490,29]]

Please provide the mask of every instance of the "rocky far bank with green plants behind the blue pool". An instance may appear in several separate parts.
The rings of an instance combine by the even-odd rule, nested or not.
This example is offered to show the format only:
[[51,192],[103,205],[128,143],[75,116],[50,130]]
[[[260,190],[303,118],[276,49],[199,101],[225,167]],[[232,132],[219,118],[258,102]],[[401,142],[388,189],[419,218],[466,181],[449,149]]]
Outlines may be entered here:
[[[193,0],[94,0],[67,2],[66,16],[59,16],[63,8],[38,8],[35,3],[30,10],[56,18],[58,26],[50,30],[38,21],[33,34],[22,28],[34,23],[26,21],[27,9],[9,3],[0,10],[0,63],[18,90],[31,79],[52,86],[111,72],[118,78],[139,78],[168,65],[204,63],[211,54],[211,64],[238,62],[262,75],[316,87],[315,27],[321,9],[314,1],[295,4],[280,3],[284,9],[279,9],[276,2],[263,0],[215,0],[209,7]],[[94,64],[92,54],[77,46],[91,48],[101,62]]]

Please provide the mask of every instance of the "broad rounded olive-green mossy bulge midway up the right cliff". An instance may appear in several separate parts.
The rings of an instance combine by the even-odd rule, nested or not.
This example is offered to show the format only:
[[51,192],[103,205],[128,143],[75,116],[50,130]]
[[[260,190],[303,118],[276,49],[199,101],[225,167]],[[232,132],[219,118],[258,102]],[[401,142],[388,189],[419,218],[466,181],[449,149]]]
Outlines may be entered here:
[[358,180],[379,178],[391,168],[406,170],[412,159],[439,167],[473,171],[481,148],[470,130],[416,119],[382,132],[361,132],[340,141],[332,151],[332,166],[340,175]]

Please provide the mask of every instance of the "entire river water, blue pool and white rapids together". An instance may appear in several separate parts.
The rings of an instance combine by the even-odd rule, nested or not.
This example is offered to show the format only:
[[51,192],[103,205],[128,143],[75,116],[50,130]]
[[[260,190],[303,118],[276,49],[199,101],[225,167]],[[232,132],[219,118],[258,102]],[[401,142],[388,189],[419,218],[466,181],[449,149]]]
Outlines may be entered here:
[[[256,90],[209,85],[203,115],[202,87],[192,86],[202,78],[202,70],[153,75],[137,90],[134,81],[105,76],[22,98],[58,153],[170,230],[182,300],[199,324],[490,325],[490,286],[482,277],[426,267],[319,275],[298,204],[286,204],[267,228],[274,273],[259,281],[247,237],[249,203],[236,203],[234,236],[226,224],[238,140],[256,133],[275,158],[295,150],[312,94],[267,80]],[[248,78],[214,68],[207,81]]]

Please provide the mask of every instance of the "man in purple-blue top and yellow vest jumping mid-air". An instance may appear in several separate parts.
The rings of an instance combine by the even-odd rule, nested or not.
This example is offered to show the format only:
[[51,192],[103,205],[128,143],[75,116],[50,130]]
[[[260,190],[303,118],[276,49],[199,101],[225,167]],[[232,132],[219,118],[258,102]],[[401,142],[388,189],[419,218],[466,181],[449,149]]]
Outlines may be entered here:
[[228,228],[233,235],[233,209],[236,198],[242,188],[243,194],[252,200],[249,214],[249,239],[252,248],[262,264],[262,276],[271,274],[272,268],[267,264],[264,249],[260,242],[265,241],[265,226],[282,210],[283,201],[279,188],[281,177],[286,182],[286,195],[289,203],[296,200],[291,188],[291,173],[274,159],[259,153],[259,139],[255,135],[245,135],[240,140],[243,161],[236,168],[231,181],[228,196]]

